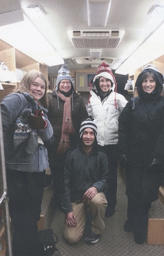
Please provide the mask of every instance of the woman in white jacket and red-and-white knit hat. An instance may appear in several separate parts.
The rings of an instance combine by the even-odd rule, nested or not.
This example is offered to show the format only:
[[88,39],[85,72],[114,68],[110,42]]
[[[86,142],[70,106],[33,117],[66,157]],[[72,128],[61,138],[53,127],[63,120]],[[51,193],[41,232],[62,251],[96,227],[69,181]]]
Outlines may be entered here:
[[97,74],[91,83],[88,115],[94,118],[97,125],[97,142],[100,151],[108,157],[109,179],[106,199],[108,206],[105,217],[114,214],[117,193],[118,149],[118,117],[127,100],[116,92],[116,80],[110,66],[104,62],[98,67]]

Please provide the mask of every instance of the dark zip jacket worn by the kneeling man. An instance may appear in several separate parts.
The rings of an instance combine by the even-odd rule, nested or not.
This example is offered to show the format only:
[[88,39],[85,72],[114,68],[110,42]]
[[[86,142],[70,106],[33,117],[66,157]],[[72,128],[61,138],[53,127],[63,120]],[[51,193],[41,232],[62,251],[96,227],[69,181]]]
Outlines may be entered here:
[[61,196],[61,205],[65,214],[72,212],[71,202],[83,199],[88,188],[95,187],[98,192],[107,190],[108,159],[102,152],[93,151],[86,158],[78,146],[68,152],[64,167],[65,193]]

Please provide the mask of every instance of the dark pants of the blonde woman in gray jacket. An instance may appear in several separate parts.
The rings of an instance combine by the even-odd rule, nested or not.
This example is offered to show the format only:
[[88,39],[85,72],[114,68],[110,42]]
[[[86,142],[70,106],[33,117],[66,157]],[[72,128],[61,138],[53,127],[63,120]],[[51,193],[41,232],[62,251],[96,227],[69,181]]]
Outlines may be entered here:
[[6,170],[13,256],[42,256],[37,221],[44,192],[44,172]]

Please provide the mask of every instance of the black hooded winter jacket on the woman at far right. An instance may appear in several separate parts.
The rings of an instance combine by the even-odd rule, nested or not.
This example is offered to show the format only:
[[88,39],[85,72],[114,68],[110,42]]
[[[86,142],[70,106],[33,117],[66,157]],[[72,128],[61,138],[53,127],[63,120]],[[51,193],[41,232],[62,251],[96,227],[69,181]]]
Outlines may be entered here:
[[[157,78],[153,93],[142,90],[144,72],[151,71]],[[164,162],[164,97],[162,75],[145,69],[138,76],[138,97],[129,100],[119,116],[118,142],[121,155],[130,163],[149,166],[153,159]],[[134,107],[134,108],[133,108]]]

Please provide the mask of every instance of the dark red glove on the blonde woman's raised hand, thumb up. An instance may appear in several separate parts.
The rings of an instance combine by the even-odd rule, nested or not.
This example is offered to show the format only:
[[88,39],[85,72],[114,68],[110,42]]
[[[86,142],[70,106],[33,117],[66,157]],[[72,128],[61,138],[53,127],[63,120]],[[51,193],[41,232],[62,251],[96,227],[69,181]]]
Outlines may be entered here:
[[31,128],[35,130],[41,130],[45,127],[46,121],[41,116],[42,109],[39,109],[38,116],[30,115],[28,116],[28,123]]

